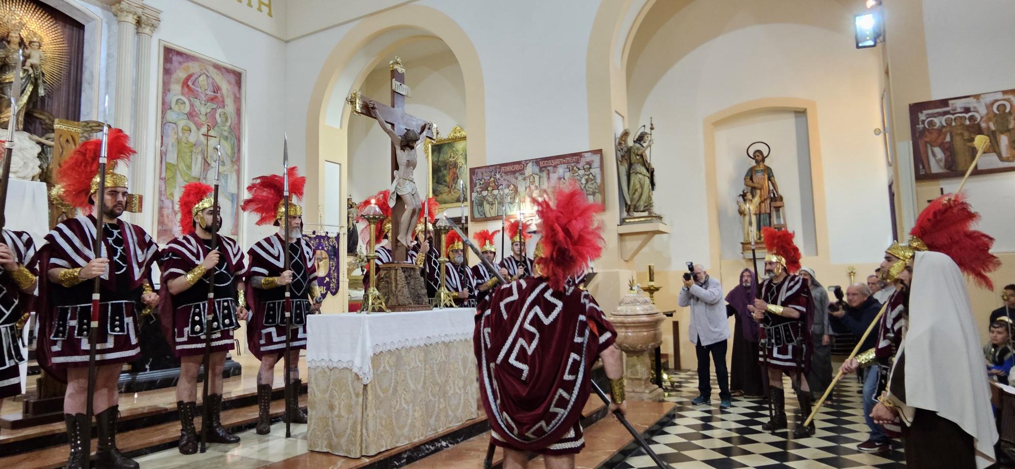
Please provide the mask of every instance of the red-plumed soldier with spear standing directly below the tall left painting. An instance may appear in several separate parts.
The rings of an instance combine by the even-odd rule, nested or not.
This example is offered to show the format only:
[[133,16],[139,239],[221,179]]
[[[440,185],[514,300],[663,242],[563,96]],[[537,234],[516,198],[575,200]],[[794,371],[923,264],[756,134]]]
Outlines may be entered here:
[[[177,382],[177,411],[180,413],[180,453],[192,455],[198,450],[194,414],[197,407],[198,368],[204,358],[205,334],[211,333],[209,355],[211,419],[208,441],[239,443],[222,427],[222,367],[225,353],[232,349],[232,331],[247,320],[247,300],[241,275],[246,270],[244,253],[230,238],[217,234],[222,218],[214,218],[212,188],[204,183],[184,186],[180,196],[180,231],[162,250],[161,302],[159,322],[165,341],[180,358]],[[218,237],[217,249],[211,251],[212,237]],[[208,305],[208,275],[214,271],[215,306],[212,320],[204,320]]]

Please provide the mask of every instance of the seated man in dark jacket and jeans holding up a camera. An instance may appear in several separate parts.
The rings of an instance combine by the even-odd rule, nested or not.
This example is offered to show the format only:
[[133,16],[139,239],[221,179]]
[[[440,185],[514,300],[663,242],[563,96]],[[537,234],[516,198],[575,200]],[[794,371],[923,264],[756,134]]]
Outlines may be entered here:
[[[845,289],[845,305],[841,310],[830,312],[829,314],[837,318],[838,322],[845,326],[850,332],[860,340],[867,331],[867,327],[874,321],[874,317],[881,311],[881,304],[874,296],[871,296],[871,289],[864,283],[854,283]],[[870,350],[877,343],[877,334],[870,334],[860,350]],[[870,438],[857,446],[857,449],[865,453],[883,453],[889,449],[889,438],[884,428],[875,423],[871,418],[871,410],[877,404],[878,386],[878,365],[874,364],[859,371],[864,382],[864,419],[870,427]]]

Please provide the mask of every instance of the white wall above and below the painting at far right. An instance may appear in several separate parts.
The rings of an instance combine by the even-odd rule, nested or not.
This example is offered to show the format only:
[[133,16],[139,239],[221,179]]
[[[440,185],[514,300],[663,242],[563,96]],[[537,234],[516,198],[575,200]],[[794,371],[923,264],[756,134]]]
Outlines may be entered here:
[[[947,0],[924,0],[931,99],[1015,88],[1012,18],[1015,2],[1006,0],[963,2],[961,8]],[[941,185],[951,192],[960,180],[943,180]],[[1015,252],[1015,174],[973,176],[964,190],[983,216],[979,229],[996,240],[994,251]]]

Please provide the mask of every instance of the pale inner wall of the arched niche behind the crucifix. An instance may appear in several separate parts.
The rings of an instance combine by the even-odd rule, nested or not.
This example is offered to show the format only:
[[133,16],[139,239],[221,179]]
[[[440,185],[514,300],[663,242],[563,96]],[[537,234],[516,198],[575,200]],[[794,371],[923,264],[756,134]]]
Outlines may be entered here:
[[[392,56],[398,55],[398,51]],[[386,61],[382,63],[387,64]],[[436,124],[442,136],[460,125],[465,127],[465,81],[462,68],[451,50],[419,60],[405,61],[406,84],[412,96],[405,112]],[[391,73],[387,66],[370,72],[360,91],[390,104]],[[469,129],[465,129],[468,133]],[[391,185],[391,139],[377,121],[361,116],[349,119],[349,195],[359,202]],[[422,151],[417,155],[415,180],[420,193],[426,191],[427,168]],[[455,210],[458,213],[458,210]]]

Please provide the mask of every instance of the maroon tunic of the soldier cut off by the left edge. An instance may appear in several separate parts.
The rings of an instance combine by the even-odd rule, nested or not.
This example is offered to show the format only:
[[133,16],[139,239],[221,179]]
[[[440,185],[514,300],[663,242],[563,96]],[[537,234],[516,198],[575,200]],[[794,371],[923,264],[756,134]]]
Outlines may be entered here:
[[[32,275],[36,268],[36,246],[24,231],[3,230],[3,244],[14,254],[14,261],[23,265]],[[21,375],[18,365],[24,362],[18,345],[17,320],[31,311],[35,298],[17,287],[7,270],[0,268],[0,399],[21,394]]]

